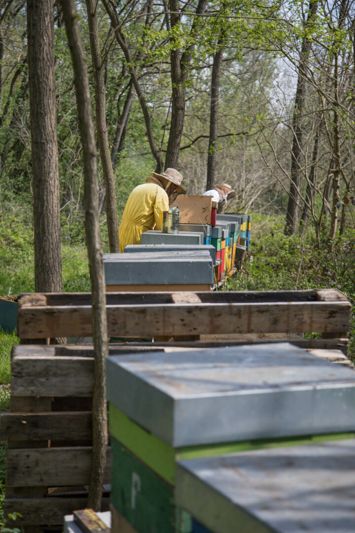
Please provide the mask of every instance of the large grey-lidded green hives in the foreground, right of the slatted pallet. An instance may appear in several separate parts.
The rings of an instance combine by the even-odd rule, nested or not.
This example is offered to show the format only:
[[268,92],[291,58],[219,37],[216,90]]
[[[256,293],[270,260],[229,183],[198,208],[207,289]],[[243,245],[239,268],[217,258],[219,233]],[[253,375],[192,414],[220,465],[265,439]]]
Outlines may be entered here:
[[[355,472],[354,441],[336,435],[354,437],[355,374],[287,343],[111,357],[107,393],[112,533],[306,530],[325,511],[310,487],[327,479],[333,489],[349,485],[346,469]],[[262,451],[245,451],[252,449]],[[302,450],[310,456],[303,466]],[[306,467],[300,491],[291,479]],[[328,503],[332,497],[333,518],[337,503],[348,506],[354,526],[350,496],[345,504],[341,491]],[[286,515],[287,527],[282,520],[276,527]],[[329,531],[343,531],[336,524]]]

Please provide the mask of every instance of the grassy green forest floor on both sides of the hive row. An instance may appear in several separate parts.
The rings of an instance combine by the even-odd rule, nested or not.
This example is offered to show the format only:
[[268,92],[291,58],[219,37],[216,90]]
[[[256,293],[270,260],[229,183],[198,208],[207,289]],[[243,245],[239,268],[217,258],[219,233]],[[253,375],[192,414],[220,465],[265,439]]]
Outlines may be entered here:
[[[10,217],[11,218],[11,217]],[[326,238],[316,242],[311,229],[285,237],[283,217],[255,215],[249,257],[240,272],[229,278],[224,290],[282,290],[337,288],[355,304],[355,228],[348,229],[332,246]],[[104,232],[103,232],[104,234]],[[104,251],[107,243],[104,243]],[[65,233],[63,282],[67,292],[90,290],[84,236]],[[13,297],[34,292],[33,238],[30,224],[18,217],[0,224],[0,295]],[[318,336],[312,332],[307,336]],[[349,332],[349,358],[355,361],[355,306]],[[15,332],[0,330],[0,411],[10,406],[10,357]],[[6,442],[0,442],[0,529],[3,520]]]

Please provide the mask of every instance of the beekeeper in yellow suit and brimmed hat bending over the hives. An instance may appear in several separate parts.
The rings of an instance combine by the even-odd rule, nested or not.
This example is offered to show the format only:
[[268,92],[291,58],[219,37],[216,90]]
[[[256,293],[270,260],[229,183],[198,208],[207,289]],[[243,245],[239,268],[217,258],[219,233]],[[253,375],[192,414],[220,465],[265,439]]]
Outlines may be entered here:
[[161,230],[160,212],[168,211],[169,198],[185,194],[181,187],[183,176],[175,168],[167,168],[162,174],[152,172],[145,183],[130,193],[118,229],[120,251],[128,244],[141,244],[141,236],[156,225]]

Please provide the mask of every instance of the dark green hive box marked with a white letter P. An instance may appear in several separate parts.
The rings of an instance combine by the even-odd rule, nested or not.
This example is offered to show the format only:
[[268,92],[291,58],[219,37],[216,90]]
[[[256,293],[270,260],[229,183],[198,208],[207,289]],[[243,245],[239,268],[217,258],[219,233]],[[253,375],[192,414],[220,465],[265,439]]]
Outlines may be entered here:
[[191,517],[174,503],[174,487],[111,437],[111,504],[138,533],[190,533]]

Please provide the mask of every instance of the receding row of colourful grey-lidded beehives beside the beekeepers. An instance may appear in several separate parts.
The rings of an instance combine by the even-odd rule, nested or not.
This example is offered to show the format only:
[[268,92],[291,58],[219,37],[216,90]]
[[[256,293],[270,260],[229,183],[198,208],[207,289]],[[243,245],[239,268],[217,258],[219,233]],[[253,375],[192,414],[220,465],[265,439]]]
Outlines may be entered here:
[[[215,220],[216,206],[205,196],[178,196],[176,205],[181,216],[178,233],[146,231],[141,245],[127,246],[123,255],[104,255],[106,290],[203,291],[233,273],[241,263],[236,252],[246,215],[218,215]],[[210,256],[204,253],[207,247]]]

